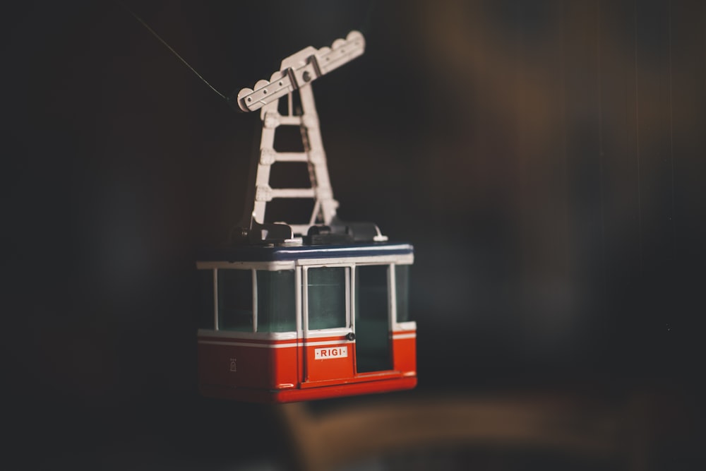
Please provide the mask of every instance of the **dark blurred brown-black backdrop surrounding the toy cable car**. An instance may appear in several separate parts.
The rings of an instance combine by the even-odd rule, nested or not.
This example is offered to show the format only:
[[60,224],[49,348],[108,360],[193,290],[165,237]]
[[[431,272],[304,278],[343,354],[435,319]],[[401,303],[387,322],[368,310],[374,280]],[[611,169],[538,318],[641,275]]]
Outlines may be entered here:
[[[309,413],[637,396],[654,432],[641,463],[702,469],[702,2],[125,3],[225,95],[306,46],[366,37],[314,94],[339,215],[414,244],[419,387]],[[196,252],[239,221],[258,116],[229,108],[117,2],[14,2],[3,16],[17,463],[289,469],[281,411],[207,400],[196,383]],[[532,447],[448,453],[424,463],[629,467]],[[347,469],[416,462],[395,463]]]

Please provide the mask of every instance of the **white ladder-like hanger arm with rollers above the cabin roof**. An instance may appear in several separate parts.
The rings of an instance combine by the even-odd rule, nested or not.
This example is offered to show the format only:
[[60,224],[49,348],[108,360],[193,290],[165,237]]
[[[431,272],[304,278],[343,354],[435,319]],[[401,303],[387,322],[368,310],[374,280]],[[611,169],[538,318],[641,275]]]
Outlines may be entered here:
[[[338,232],[356,239],[370,238],[376,242],[387,240],[377,226],[371,223],[345,225],[336,217],[338,202],[333,198],[326,164],[326,154],[321,141],[316,104],[311,82],[335,68],[347,64],[363,54],[365,40],[360,32],[349,32],[345,40],[335,40],[331,47],[315,49],[306,47],[282,61],[280,71],[269,81],[258,81],[254,88],[243,88],[237,95],[239,108],[244,112],[260,109],[263,123],[260,148],[257,156],[254,181],[246,208],[252,212],[241,222],[242,235],[251,243],[297,244],[301,236],[319,232]],[[301,114],[294,114],[292,93],[297,90],[301,101]],[[287,114],[278,112],[280,99],[287,97]],[[304,152],[277,152],[274,148],[275,132],[279,126],[299,126]],[[309,167],[310,188],[272,188],[270,169],[276,162],[302,162]],[[251,180],[253,178],[251,177]],[[306,224],[265,223],[267,204],[275,198],[311,198],[313,210]],[[371,231],[374,234],[371,234]],[[361,234],[365,234],[362,235]]]

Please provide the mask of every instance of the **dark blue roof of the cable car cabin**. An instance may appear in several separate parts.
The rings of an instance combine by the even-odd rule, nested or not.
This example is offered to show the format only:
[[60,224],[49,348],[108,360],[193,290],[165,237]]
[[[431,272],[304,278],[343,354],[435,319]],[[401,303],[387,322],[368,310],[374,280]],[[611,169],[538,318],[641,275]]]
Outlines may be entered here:
[[413,254],[412,244],[373,242],[347,245],[257,246],[243,245],[204,251],[198,261],[269,262],[301,258],[343,258]]

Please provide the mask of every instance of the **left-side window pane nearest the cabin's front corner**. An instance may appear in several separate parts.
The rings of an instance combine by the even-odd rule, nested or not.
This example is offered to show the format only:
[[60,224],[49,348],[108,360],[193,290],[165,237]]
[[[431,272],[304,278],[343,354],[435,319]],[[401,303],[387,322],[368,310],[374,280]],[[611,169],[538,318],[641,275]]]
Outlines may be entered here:
[[258,270],[258,332],[297,330],[294,270]]

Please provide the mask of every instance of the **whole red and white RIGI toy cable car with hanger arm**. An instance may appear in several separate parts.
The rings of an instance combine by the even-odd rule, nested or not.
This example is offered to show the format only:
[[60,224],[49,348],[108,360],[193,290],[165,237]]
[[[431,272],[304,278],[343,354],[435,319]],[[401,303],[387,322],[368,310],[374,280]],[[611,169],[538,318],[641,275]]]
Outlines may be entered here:
[[[388,242],[372,223],[336,216],[311,92],[311,82],[364,47],[357,31],[330,48],[307,47],[237,95],[243,111],[260,109],[263,126],[239,242],[196,263],[206,293],[198,330],[203,395],[287,403],[417,384],[417,325],[407,308],[413,248]],[[288,112],[280,114],[284,98]],[[301,130],[304,152],[275,150],[282,126]],[[278,162],[306,165],[311,187],[271,188]],[[275,198],[311,198],[309,223],[265,222]]]

